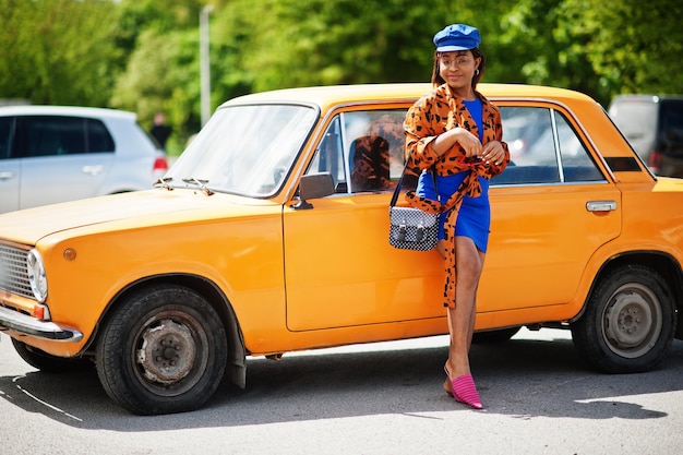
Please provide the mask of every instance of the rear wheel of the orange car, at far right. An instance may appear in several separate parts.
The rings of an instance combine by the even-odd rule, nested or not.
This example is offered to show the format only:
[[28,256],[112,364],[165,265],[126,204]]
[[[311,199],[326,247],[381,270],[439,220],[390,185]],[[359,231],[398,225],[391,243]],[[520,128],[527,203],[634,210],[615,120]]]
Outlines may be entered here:
[[667,282],[639,265],[622,266],[601,279],[578,321],[574,346],[592,368],[637,373],[655,368],[671,346],[675,308]]

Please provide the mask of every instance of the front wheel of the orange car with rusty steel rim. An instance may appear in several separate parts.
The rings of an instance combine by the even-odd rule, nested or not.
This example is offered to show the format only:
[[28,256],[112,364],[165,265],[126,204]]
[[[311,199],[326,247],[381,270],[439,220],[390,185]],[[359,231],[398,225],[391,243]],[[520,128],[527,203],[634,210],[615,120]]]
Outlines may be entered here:
[[154,286],[118,306],[97,340],[96,367],[107,394],[131,412],[183,412],[218,388],[227,338],[197,292]]

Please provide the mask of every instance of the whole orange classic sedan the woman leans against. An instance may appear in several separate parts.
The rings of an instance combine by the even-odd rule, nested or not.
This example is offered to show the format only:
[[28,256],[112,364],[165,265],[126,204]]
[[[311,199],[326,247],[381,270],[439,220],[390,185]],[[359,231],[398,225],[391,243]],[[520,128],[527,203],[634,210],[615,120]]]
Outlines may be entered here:
[[[1,215],[0,328],[40,370],[94,362],[145,415],[196,408],[224,375],[243,387],[250,356],[447,333],[439,254],[387,240],[402,123],[430,89],[231,99],[156,188]],[[491,182],[476,337],[564,327],[598,370],[652,369],[683,337],[683,180],[585,95],[480,89],[512,163]]]

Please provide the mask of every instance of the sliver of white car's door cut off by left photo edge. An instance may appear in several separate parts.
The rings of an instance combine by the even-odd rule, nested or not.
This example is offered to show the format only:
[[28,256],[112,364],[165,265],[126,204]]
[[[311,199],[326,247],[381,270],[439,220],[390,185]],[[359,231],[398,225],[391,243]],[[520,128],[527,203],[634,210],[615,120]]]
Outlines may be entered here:
[[19,208],[21,159],[14,156],[14,117],[0,117],[0,213]]

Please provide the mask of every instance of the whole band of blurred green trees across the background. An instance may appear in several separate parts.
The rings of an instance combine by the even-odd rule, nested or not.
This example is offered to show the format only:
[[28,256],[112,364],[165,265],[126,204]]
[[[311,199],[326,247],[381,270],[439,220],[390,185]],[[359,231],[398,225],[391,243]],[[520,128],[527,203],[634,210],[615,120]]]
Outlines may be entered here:
[[250,92],[428,81],[432,36],[476,25],[484,82],[681,92],[675,0],[0,0],[0,98],[164,111],[179,152],[200,128],[199,16],[211,17],[212,109]]

